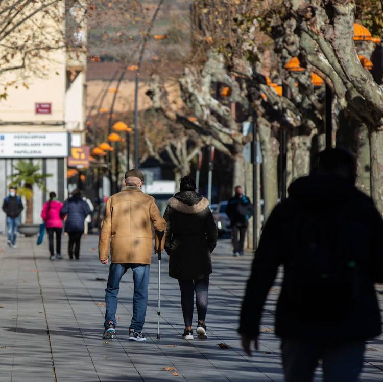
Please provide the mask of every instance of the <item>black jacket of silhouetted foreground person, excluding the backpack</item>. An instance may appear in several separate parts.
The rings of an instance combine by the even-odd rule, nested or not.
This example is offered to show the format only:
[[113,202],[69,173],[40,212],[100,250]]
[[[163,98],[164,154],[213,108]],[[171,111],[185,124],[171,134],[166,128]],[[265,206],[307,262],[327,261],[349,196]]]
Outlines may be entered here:
[[[341,237],[340,252],[351,256],[356,263],[354,283],[357,294],[352,304],[343,314],[338,312],[336,304],[329,306],[326,320],[310,317],[307,311],[302,314],[307,306],[302,304],[301,309],[297,309],[294,306],[296,296],[291,293],[292,277],[297,278],[294,249],[297,243],[304,242],[304,237],[299,237],[297,227],[307,216],[325,217],[323,221],[326,223],[322,226],[325,226],[329,237],[335,241]],[[342,229],[337,231],[334,227],[340,221]],[[340,231],[342,236],[339,236]],[[275,318],[276,335],[330,340],[365,340],[379,335],[380,314],[373,284],[383,282],[382,232],[383,220],[372,200],[356,187],[329,176],[298,179],[289,188],[289,198],[275,207],[262,232],[238,331],[250,336],[259,334],[262,307],[278,267],[283,265],[283,282]],[[348,251],[344,251],[344,248],[348,248],[350,253],[346,254]],[[298,278],[307,280],[307,275],[298,275]],[[303,295],[305,286],[307,283],[302,284]],[[333,288],[333,291],[339,292],[337,288]],[[341,298],[338,301],[342,303]],[[312,302],[307,299],[307,303]]]

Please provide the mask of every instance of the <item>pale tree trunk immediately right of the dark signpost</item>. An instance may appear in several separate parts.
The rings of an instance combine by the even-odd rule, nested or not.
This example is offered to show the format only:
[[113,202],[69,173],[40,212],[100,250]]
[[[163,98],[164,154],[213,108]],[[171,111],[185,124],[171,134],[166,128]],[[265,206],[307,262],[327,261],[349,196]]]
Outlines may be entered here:
[[264,195],[265,220],[278,203],[278,153],[279,143],[271,135],[268,122],[263,123],[258,118],[258,131],[262,151],[262,187]]

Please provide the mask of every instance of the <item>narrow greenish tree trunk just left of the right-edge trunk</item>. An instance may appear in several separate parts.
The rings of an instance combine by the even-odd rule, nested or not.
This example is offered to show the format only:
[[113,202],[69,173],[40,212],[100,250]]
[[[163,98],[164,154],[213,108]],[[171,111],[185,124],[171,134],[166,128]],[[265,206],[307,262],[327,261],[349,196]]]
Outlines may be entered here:
[[357,142],[357,180],[356,186],[368,196],[371,195],[370,142],[368,128],[361,123]]

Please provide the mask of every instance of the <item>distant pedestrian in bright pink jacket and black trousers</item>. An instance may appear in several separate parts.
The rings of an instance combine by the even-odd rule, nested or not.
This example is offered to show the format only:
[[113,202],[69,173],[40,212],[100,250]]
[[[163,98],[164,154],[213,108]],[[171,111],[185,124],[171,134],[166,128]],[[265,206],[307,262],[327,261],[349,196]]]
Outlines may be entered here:
[[46,201],[42,207],[41,217],[45,222],[46,232],[48,234],[50,260],[55,259],[54,235],[56,234],[56,258],[62,259],[61,256],[61,233],[62,233],[62,216],[61,209],[63,204],[56,200],[56,193],[50,192],[49,201]]

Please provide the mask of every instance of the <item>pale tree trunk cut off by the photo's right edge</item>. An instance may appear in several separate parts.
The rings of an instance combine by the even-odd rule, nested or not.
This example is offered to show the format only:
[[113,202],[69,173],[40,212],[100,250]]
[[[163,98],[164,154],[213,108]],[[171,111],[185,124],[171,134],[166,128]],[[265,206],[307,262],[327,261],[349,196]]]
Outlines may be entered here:
[[[381,126],[383,127],[383,126]],[[371,197],[383,215],[383,131],[370,131]]]

